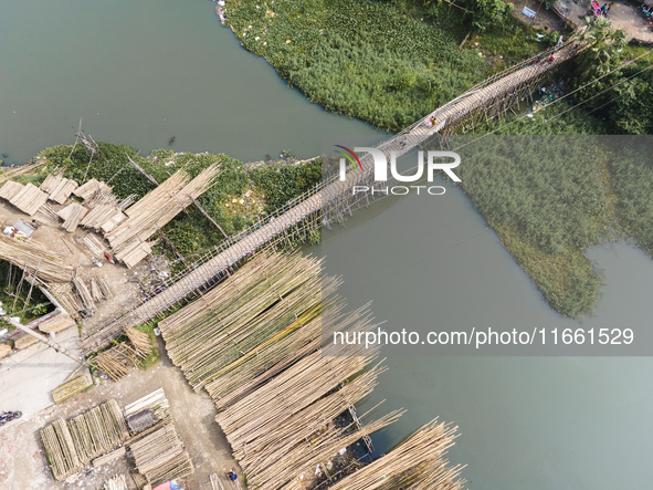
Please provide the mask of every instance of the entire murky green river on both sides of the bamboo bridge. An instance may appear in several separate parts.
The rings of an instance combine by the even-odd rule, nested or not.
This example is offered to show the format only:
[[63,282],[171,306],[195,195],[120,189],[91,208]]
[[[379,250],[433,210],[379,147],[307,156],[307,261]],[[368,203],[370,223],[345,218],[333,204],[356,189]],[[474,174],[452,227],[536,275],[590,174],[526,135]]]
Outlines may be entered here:
[[[2,0],[0,153],[22,163],[72,143],[80,117],[96,139],[148,153],[224,152],[242,159],[323,149],[324,134],[369,126],[327,114],[286,86],[220,27],[209,0]],[[369,142],[357,139],[358,145]],[[388,325],[577,325],[550,311],[459,191],[378,202],[328,247],[350,247],[343,293],[373,300]],[[419,220],[422,230],[402,227]],[[392,229],[376,225],[391,221]],[[653,263],[628,246],[592,258],[605,295],[586,325],[650,323]],[[333,264],[329,269],[333,270]],[[365,274],[356,271],[362,268]],[[372,271],[372,272],[369,272]],[[387,354],[383,352],[382,354]],[[377,435],[386,450],[440,416],[460,426],[451,451],[473,489],[649,488],[653,466],[651,358],[434,357],[391,353],[366,403],[409,413]],[[364,407],[365,408],[365,407]]]

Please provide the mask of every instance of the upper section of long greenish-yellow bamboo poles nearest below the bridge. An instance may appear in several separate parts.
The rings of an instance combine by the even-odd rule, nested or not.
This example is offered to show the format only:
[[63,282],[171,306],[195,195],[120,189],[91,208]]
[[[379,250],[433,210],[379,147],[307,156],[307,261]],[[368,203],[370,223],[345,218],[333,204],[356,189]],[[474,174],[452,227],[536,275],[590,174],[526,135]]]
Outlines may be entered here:
[[[159,323],[172,363],[194,390],[251,352],[307,324],[320,313],[320,261],[293,253],[260,254],[229,281]],[[288,327],[289,325],[289,327]]]

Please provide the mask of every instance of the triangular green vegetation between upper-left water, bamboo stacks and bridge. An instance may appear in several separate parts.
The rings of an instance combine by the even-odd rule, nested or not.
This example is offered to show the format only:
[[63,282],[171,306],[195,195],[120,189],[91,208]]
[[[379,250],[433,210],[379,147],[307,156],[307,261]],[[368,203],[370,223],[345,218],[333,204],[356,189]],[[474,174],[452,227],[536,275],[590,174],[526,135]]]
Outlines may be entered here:
[[[141,157],[127,145],[98,143],[98,147],[99,155],[93,159],[82,144],[74,148],[60,145],[43,150],[41,156],[48,158],[49,164],[42,169],[42,176],[55,168],[65,168],[65,176],[78,183],[91,178],[110,183],[119,199],[130,195],[140,198],[154,185],[129,163],[127,155],[159,183],[179,168],[185,168],[193,177],[218,163],[220,177],[198,201],[230,237],[305,192],[322,178],[319,159],[304,166],[288,165],[284,160],[246,166],[227,155],[175,154],[161,149]],[[247,190],[251,192],[245,196]],[[177,216],[162,231],[186,257],[209,250],[225,238],[194,206],[188,209],[188,213]]]

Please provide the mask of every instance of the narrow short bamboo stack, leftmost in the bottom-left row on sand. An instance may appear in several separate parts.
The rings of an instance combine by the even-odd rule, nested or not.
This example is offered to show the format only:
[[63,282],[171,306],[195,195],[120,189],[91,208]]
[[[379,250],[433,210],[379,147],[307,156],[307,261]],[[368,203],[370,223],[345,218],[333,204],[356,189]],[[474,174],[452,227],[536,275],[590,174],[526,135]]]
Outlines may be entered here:
[[55,480],[65,480],[83,468],[69,425],[63,418],[41,429],[41,440]]

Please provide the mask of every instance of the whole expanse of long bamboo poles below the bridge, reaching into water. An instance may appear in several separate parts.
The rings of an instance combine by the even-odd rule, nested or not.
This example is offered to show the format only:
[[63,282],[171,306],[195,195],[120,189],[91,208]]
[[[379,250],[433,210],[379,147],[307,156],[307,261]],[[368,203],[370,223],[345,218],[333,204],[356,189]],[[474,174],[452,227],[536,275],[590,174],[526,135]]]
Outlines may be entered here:
[[[331,487],[341,478],[329,473],[341,449],[362,440],[371,450],[369,436],[403,413],[357,416],[355,405],[385,368],[376,348],[323,350],[323,329],[367,332],[376,325],[367,306],[345,313],[334,295],[339,281],[320,272],[322,261],[298,253],[260,253],[159,323],[172,362],[193,389],[213,398],[215,420],[251,488],[313,488],[316,471]],[[341,414],[349,416],[344,425],[336,423]],[[461,488],[460,468],[442,458],[454,437],[455,429],[442,425],[423,429],[411,439],[409,457],[401,448],[385,457],[392,461],[385,475]],[[373,478],[377,467],[370,468]]]

